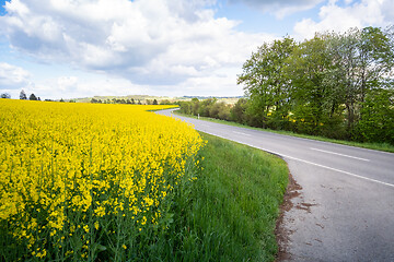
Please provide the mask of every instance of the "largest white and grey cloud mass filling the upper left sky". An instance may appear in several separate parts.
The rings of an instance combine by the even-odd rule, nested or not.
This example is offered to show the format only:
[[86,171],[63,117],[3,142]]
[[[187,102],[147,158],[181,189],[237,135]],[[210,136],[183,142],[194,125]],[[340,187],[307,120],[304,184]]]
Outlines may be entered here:
[[252,50],[274,38],[243,34],[234,29],[237,22],[215,19],[207,8],[215,2],[12,0],[0,27],[14,49],[38,60],[140,85],[174,85],[241,68]]

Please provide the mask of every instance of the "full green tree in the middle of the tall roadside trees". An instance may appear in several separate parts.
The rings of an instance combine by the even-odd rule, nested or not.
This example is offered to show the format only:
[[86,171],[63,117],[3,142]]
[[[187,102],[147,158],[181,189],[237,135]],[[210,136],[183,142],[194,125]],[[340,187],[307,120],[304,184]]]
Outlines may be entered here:
[[321,134],[333,107],[338,106],[335,84],[327,81],[333,70],[332,34],[316,34],[294,49],[287,68],[293,84],[292,112],[298,131]]

